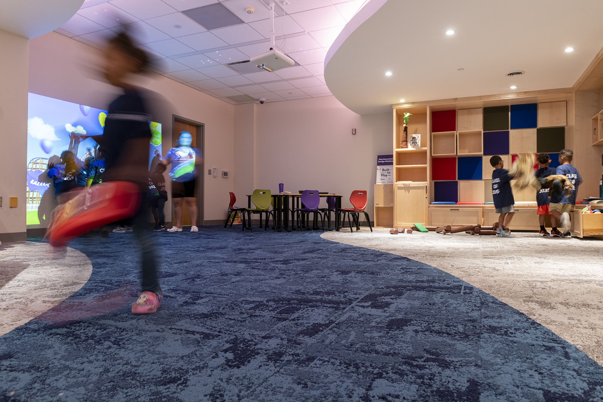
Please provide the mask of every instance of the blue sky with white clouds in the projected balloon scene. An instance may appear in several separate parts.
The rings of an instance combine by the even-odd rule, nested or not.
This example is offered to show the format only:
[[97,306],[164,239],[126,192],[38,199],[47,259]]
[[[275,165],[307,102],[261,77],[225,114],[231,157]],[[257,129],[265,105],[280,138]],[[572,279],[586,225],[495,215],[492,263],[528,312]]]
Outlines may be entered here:
[[[77,103],[66,102],[42,95],[29,94],[27,110],[27,162],[33,158],[49,158],[52,155],[61,155],[61,152],[69,148],[69,132],[65,129],[66,124],[73,127],[81,126],[86,130],[86,135],[101,135],[101,126],[98,115],[106,110],[90,107],[87,116]],[[49,153],[43,150],[40,144],[43,140],[49,140],[51,149]],[[80,142],[78,158],[83,158],[86,148],[92,148],[95,144],[92,138]]]

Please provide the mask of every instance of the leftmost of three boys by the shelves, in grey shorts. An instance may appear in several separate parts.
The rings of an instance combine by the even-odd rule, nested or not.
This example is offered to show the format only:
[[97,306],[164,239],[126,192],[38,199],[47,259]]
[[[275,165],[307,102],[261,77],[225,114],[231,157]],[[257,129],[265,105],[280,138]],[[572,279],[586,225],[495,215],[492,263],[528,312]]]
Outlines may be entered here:
[[510,237],[511,231],[507,229],[507,226],[513,219],[515,209],[513,204],[515,199],[513,198],[513,191],[511,190],[511,179],[509,177],[509,171],[506,170],[505,162],[498,155],[494,155],[490,158],[490,165],[494,168],[492,171],[492,199],[494,200],[494,208],[498,217],[498,237]]

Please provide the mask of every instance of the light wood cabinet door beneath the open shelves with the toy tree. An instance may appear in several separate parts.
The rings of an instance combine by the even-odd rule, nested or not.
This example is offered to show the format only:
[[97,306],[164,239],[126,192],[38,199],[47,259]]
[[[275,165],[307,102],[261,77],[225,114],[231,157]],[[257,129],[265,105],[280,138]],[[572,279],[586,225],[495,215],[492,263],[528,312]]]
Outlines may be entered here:
[[427,182],[394,183],[394,227],[426,225],[429,186]]

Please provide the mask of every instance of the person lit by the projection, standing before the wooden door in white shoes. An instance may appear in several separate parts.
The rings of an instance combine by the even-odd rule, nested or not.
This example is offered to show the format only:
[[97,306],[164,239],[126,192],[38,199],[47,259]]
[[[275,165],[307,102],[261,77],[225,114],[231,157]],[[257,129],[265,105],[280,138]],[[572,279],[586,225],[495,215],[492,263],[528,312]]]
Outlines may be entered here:
[[155,155],[164,164],[172,164],[169,178],[172,179],[172,202],[176,222],[168,232],[182,232],[182,204],[186,203],[186,211],[191,218],[191,232],[198,232],[197,202],[195,200],[195,165],[203,160],[200,152],[191,148],[192,135],[183,131],[178,136],[177,148],[170,148],[165,158],[155,149]]

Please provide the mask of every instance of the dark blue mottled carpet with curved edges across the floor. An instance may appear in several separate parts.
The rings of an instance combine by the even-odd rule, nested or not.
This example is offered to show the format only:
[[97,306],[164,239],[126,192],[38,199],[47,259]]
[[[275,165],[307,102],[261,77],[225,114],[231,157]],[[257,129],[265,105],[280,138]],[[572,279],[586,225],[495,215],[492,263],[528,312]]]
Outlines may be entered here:
[[0,337],[0,401],[603,400],[601,366],[426,264],[320,232],[153,235],[160,310],[130,314],[133,235],[76,239],[92,276]]

